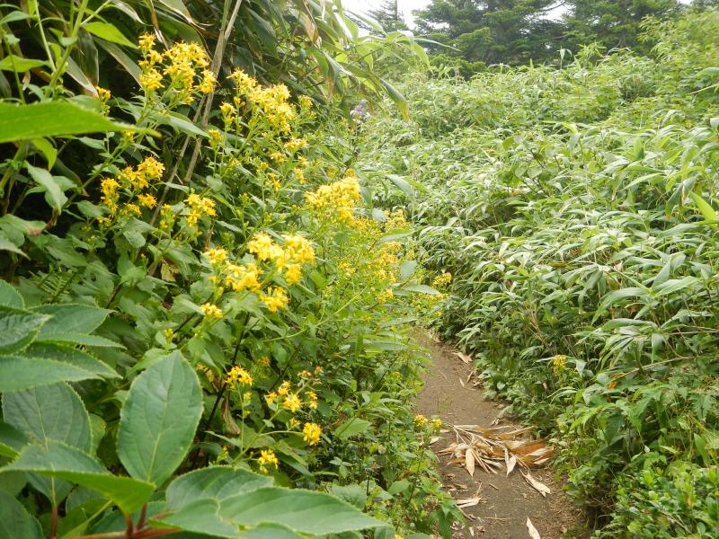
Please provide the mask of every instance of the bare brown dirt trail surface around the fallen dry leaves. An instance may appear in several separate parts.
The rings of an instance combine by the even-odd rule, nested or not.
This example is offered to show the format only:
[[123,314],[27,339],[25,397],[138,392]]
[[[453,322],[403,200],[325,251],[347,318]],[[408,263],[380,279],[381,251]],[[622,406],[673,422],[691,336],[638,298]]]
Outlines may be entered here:
[[[472,367],[427,333],[418,331],[416,338],[431,351],[432,358],[417,411],[428,417],[438,415],[445,425],[489,427],[499,415],[501,406],[484,400],[480,390],[473,388],[471,383],[467,384]],[[507,422],[502,420],[499,424],[506,425]],[[455,441],[455,437],[449,432],[443,434],[442,439],[432,447],[439,451],[452,441]],[[486,499],[485,503],[464,509],[465,514],[474,519],[469,520],[463,529],[455,531],[456,539],[528,538],[528,517],[542,539],[587,536],[578,531],[581,529],[578,510],[570,500],[564,498],[561,485],[554,481],[548,471],[532,471],[537,480],[552,490],[551,494],[543,498],[525,482],[518,470],[506,477],[504,471],[492,474],[477,469],[474,477],[471,477],[464,467],[448,464],[449,460],[448,455],[439,455],[439,472],[446,490],[455,499],[473,498],[478,490],[478,495]]]

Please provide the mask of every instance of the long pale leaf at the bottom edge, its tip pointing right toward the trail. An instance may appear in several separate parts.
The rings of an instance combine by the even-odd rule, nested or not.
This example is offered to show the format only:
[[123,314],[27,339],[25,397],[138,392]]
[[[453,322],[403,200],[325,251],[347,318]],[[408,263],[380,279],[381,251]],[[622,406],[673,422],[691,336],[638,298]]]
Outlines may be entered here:
[[263,488],[222,502],[222,517],[241,526],[279,524],[301,534],[341,534],[383,526],[349,503],[310,490]]

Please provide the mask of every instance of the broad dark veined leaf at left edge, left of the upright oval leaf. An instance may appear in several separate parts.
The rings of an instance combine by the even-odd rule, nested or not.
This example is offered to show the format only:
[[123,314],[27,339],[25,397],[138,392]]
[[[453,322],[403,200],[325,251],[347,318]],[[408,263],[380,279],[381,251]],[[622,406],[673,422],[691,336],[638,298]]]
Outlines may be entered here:
[[3,394],[4,420],[32,442],[64,442],[84,451],[92,446],[90,418],[75,390],[67,384]]

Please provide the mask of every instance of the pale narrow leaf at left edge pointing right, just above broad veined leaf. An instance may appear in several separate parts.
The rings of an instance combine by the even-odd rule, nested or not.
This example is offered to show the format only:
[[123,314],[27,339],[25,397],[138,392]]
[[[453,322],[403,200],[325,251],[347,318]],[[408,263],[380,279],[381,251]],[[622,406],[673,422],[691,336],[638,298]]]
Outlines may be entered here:
[[55,359],[0,356],[0,393],[99,377],[97,372]]

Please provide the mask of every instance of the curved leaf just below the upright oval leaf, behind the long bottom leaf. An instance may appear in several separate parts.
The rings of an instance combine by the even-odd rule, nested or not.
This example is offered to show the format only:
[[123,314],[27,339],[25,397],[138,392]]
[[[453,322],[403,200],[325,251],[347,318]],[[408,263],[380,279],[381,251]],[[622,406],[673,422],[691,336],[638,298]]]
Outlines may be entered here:
[[269,487],[272,478],[241,468],[211,466],[177,477],[167,487],[167,508],[176,510],[202,499],[222,501],[242,492]]

